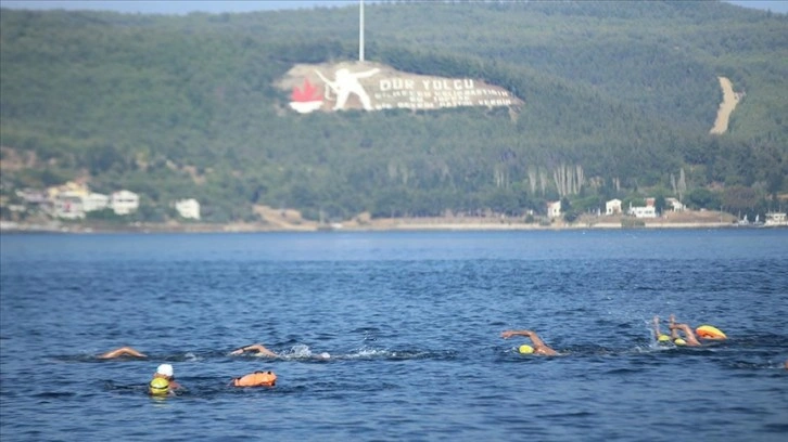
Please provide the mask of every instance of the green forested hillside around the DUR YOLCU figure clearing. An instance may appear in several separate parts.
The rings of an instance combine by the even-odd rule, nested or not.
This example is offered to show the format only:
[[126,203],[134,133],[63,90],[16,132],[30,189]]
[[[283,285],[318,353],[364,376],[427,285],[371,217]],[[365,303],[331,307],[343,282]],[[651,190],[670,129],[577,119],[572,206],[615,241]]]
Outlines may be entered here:
[[[736,213],[788,192],[785,14],[668,1],[365,10],[367,60],[478,78],[524,105],[291,112],[276,81],[296,63],[357,58],[357,8],[2,10],[2,195],[82,178],[141,194],[149,221],[193,197],[227,222],[253,220],[255,205],[342,220],[645,196]],[[741,101],[711,135],[721,76]]]

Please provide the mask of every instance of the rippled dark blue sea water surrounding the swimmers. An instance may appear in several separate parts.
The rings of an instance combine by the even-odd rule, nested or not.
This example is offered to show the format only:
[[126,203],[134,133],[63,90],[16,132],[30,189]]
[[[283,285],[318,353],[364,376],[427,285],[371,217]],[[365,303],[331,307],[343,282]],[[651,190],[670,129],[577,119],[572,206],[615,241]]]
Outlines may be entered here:
[[[3,442],[788,437],[788,230],[2,234],[0,259]],[[671,313],[730,339],[660,348]],[[254,342],[282,358],[229,355]],[[94,358],[120,346],[150,358]],[[181,395],[147,395],[162,362]],[[228,386],[256,369],[277,386]]]

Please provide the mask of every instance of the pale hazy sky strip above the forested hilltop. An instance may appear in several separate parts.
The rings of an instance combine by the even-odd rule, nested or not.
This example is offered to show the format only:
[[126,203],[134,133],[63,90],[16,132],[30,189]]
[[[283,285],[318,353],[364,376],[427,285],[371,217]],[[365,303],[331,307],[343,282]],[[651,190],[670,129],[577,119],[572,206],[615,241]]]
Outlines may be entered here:
[[[631,0],[634,1],[634,0]],[[728,3],[745,8],[771,10],[788,13],[788,0],[726,0]],[[367,0],[372,3],[374,0]],[[251,12],[314,6],[347,6],[358,4],[358,0],[0,0],[0,6],[11,9],[64,9],[64,10],[104,10],[117,12],[140,12],[152,14],[188,14],[190,12]]]

